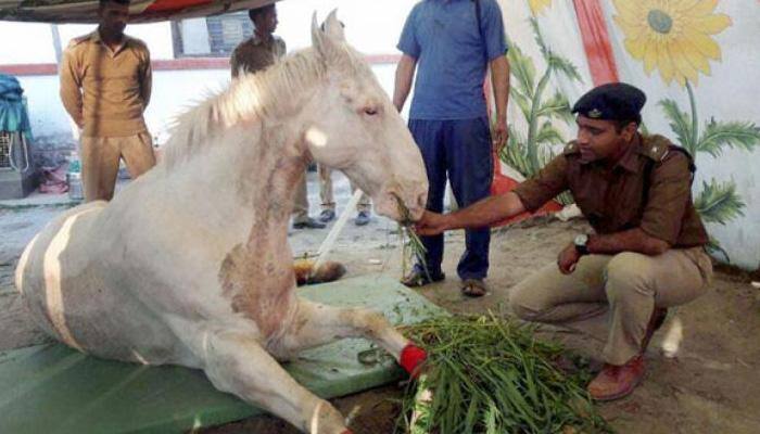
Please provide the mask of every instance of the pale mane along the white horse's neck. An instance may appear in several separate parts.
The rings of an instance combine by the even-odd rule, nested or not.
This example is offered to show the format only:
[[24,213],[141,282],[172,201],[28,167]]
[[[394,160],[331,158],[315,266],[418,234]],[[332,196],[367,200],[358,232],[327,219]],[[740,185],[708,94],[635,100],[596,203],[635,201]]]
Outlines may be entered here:
[[167,167],[206,143],[218,143],[219,140],[207,140],[218,130],[240,122],[262,123],[296,106],[326,71],[315,50],[307,49],[286,56],[267,69],[232,80],[227,90],[213,94],[177,118],[166,143]]

